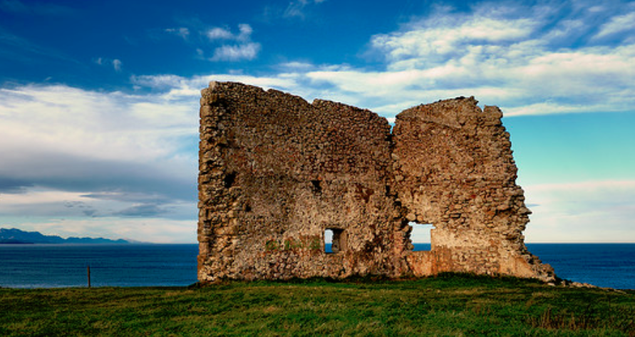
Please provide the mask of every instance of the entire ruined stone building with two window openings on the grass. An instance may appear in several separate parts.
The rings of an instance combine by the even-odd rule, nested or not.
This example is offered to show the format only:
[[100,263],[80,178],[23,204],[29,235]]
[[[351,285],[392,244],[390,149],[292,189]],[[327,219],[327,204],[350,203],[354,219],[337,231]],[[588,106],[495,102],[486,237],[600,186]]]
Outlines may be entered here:
[[[200,107],[198,279],[419,277],[553,281],[527,251],[510,134],[474,98],[369,110],[242,83]],[[433,224],[413,252],[411,222]],[[325,233],[332,233],[332,252]]]

